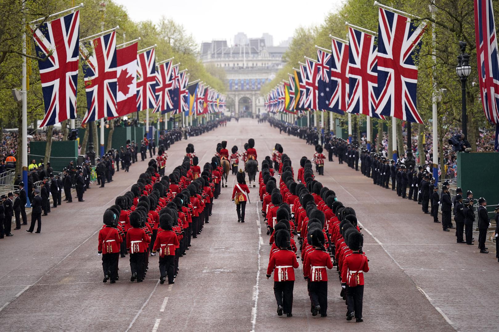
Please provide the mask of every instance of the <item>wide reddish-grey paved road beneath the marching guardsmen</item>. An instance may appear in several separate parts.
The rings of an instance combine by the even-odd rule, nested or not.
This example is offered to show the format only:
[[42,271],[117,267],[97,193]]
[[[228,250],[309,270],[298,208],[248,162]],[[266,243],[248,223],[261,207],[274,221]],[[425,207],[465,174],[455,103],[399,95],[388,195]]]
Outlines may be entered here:
[[[216,143],[242,147],[255,139],[259,158],[275,142],[298,168],[313,148],[280,135],[267,123],[229,122],[192,142],[200,163],[209,161]],[[168,170],[178,165],[187,142],[172,145]],[[345,321],[340,284],[329,272],[328,317],[312,317],[306,283],[297,278],[293,318],[278,318],[271,280],[265,279],[268,236],[257,189],[251,188],[246,223],[237,222],[231,184],[215,201],[213,216],[180,261],[174,285],[159,285],[157,256],[146,281],[131,284],[127,258],[120,260],[121,280],[103,284],[97,256],[97,230],[106,207],[128,190],[146,163],[119,172],[105,189],[92,188],[85,202],[53,209],[41,234],[23,229],[0,241],[0,322],[4,331],[497,331],[487,314],[497,307],[493,283],[498,263],[493,254],[457,245],[452,232],[421,213],[419,205],[373,186],[360,172],[326,162],[318,177],[339,200],[355,209],[364,226],[366,274],[364,323]],[[128,256],[127,256],[128,257]],[[301,266],[296,275],[301,274]]]

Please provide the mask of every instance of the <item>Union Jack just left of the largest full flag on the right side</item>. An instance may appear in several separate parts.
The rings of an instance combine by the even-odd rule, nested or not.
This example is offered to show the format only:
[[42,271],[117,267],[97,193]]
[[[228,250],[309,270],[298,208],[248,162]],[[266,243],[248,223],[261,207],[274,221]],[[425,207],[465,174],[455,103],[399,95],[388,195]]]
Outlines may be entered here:
[[376,107],[376,37],[348,27],[348,87],[347,112],[381,117]]

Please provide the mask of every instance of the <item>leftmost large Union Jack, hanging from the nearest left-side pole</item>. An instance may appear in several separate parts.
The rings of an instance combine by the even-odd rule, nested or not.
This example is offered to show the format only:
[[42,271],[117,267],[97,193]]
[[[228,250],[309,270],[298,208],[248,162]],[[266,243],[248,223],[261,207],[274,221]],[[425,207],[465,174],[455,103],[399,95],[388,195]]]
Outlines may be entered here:
[[[34,26],[31,26],[34,29]],[[40,127],[76,118],[80,11],[46,22],[34,33],[45,116]]]

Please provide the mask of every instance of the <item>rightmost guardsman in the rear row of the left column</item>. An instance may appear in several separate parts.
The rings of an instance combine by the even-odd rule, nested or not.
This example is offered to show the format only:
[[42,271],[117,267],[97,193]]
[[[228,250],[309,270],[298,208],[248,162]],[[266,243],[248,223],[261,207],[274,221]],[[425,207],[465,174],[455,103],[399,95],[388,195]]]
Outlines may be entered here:
[[153,251],[159,252],[160,284],[164,284],[168,274],[168,284],[174,284],[175,250],[179,246],[177,234],[172,230],[172,217],[164,213],[160,216],[160,229]]

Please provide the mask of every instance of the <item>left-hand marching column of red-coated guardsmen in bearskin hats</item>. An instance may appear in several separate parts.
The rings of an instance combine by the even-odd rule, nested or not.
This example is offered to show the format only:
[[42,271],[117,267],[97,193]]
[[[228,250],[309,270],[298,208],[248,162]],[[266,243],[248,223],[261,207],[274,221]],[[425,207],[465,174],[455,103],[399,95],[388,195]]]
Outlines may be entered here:
[[191,239],[209,222],[213,199],[218,197],[217,173],[221,173],[219,158],[214,157],[201,170],[194,145],[188,144],[186,150],[182,164],[168,176],[161,175],[166,158],[151,159],[130,191],[104,212],[98,243],[104,283],[119,279],[119,258],[126,255],[131,282],[142,282],[151,257],[158,255],[160,284],[167,278],[168,284],[175,283],[179,258],[187,254]]

